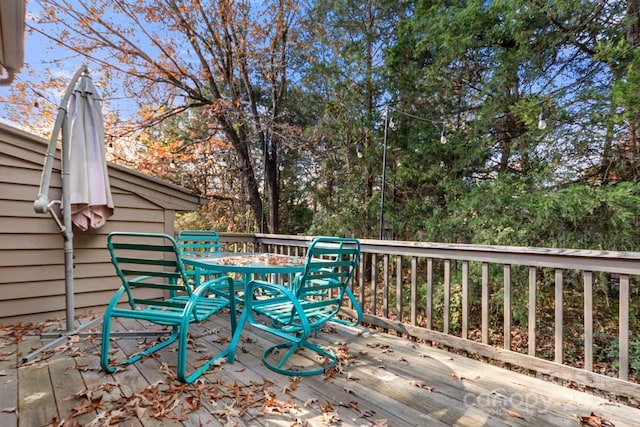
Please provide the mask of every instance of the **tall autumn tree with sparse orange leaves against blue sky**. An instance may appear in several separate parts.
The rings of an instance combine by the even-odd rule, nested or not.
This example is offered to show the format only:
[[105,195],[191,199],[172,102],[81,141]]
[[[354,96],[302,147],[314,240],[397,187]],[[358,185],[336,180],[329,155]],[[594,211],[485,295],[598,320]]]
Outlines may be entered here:
[[280,154],[299,137],[287,117],[291,55],[301,52],[304,10],[298,1],[39,4],[43,12],[31,30],[99,70],[107,101],[125,96],[137,105],[138,116],[120,117],[113,132],[132,135],[177,115],[197,116],[200,126],[182,135],[170,153],[194,141],[215,140],[211,147],[231,149],[258,229],[278,231]]

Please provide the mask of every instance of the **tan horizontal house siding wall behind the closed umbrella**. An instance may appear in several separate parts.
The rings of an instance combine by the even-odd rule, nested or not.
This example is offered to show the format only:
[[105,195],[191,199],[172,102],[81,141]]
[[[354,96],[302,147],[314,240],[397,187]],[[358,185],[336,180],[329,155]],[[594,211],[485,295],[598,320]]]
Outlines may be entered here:
[[[0,324],[65,315],[64,240],[48,214],[38,214],[48,141],[0,123]],[[76,314],[101,312],[120,286],[106,249],[112,231],[174,233],[177,211],[197,208],[190,191],[109,164],[114,215],[98,230],[73,230]],[[50,200],[61,194],[54,162]]]

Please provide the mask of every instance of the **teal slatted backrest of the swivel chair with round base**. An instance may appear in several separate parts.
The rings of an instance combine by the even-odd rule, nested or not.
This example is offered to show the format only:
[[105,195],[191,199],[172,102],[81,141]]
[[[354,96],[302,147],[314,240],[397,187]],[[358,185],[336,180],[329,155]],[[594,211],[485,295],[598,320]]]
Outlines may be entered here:
[[314,238],[307,252],[305,271],[296,281],[298,298],[325,295],[324,303],[339,306],[358,266],[359,256],[357,239]]

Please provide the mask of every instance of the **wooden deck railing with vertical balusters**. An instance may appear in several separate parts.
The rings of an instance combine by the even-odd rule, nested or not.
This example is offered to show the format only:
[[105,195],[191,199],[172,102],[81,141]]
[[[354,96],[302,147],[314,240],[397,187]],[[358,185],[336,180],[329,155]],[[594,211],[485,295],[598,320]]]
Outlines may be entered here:
[[[221,233],[221,240],[229,250],[302,255],[311,237]],[[629,327],[639,320],[640,253],[360,242],[353,291],[366,325],[617,397],[640,395],[640,337]],[[616,324],[601,325],[601,300]],[[603,361],[594,349],[607,340],[617,353]]]

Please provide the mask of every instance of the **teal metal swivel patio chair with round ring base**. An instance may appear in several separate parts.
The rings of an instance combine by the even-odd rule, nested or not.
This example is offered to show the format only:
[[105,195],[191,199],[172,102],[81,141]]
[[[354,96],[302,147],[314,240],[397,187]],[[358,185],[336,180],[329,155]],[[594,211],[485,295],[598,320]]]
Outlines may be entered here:
[[[239,331],[246,321],[284,340],[264,351],[262,360],[269,369],[285,375],[309,376],[337,363],[331,349],[312,343],[309,338],[327,322],[337,319],[347,299],[351,300],[357,318],[362,318],[362,309],[349,290],[359,255],[360,243],[356,239],[316,237],[309,245],[305,271],[293,285],[263,280],[248,283]],[[238,332],[231,343],[231,362],[239,337]],[[312,353],[310,366],[296,365],[290,360],[303,348]]]

